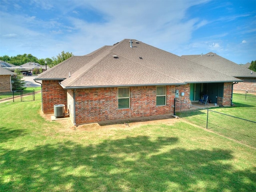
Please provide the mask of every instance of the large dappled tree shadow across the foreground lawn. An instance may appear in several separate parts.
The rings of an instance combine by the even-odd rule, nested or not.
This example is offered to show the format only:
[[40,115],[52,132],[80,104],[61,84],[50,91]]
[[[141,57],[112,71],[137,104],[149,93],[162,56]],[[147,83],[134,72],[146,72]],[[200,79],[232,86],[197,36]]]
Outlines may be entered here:
[[175,137],[146,136],[4,150],[0,191],[253,191],[255,173],[224,160],[229,150],[166,147]]

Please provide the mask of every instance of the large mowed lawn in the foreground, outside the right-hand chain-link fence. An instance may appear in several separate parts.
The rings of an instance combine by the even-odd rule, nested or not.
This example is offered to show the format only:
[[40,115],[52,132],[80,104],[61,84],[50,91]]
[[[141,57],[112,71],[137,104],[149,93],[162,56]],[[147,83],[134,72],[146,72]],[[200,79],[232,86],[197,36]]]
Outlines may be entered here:
[[1,192],[256,191],[255,148],[182,121],[74,130],[40,107],[0,103]]

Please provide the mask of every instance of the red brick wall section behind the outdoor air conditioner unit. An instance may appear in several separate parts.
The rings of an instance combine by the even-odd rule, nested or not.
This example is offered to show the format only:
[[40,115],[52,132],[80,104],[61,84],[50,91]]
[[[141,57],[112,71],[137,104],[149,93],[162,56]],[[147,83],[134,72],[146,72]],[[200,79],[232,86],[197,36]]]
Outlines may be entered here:
[[67,91],[58,80],[42,80],[42,102],[45,114],[54,113],[55,104],[64,104],[67,109]]

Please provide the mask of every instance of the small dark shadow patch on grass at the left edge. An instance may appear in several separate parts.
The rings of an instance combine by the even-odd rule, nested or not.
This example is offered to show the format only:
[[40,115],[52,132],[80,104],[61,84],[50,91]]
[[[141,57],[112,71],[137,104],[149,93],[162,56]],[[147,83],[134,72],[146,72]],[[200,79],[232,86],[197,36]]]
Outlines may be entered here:
[[24,136],[26,130],[0,127],[0,143]]

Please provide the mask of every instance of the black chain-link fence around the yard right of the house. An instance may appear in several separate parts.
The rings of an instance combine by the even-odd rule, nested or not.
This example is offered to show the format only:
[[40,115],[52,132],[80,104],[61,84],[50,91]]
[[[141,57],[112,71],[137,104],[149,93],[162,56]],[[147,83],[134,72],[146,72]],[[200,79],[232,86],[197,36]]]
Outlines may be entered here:
[[[235,105],[256,106],[256,96],[234,94]],[[175,112],[180,118],[197,126],[256,148],[256,122],[231,116],[191,103],[175,100]]]

